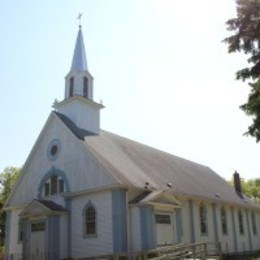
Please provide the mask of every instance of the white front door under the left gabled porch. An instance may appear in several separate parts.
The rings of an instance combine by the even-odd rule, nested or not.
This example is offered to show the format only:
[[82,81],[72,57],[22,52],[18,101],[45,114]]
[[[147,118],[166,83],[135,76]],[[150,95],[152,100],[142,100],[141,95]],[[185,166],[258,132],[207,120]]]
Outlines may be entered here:
[[45,229],[46,223],[31,223],[30,234],[30,260],[44,260],[45,254]]

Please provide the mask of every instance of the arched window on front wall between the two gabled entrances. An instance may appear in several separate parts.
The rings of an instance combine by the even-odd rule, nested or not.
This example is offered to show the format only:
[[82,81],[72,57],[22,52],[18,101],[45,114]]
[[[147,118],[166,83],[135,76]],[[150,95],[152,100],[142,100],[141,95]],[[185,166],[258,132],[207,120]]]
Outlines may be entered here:
[[95,206],[89,201],[83,210],[84,237],[97,235],[97,213]]

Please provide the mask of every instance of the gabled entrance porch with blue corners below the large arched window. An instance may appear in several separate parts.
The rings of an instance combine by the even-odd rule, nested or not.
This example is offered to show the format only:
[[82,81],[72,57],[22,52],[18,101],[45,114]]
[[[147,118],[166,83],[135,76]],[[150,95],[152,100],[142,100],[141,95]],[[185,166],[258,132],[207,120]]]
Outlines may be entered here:
[[67,213],[65,208],[53,201],[33,200],[28,204],[19,216],[18,239],[22,243],[20,259],[59,259],[60,220]]

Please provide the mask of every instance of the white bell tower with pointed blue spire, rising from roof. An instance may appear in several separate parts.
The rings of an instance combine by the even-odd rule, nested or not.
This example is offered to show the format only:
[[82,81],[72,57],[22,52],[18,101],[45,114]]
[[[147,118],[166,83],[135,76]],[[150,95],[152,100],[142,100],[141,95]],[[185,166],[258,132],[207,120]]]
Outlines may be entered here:
[[93,101],[93,77],[87,58],[81,25],[74,48],[71,68],[65,77],[65,98],[55,104],[57,112],[67,116],[77,127],[99,134],[102,104]]

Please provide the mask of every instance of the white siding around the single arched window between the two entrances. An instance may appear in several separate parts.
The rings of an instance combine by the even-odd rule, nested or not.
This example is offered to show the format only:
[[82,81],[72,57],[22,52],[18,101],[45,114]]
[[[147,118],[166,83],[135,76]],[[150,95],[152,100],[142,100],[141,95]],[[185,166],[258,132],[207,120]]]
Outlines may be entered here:
[[[83,237],[83,208],[91,201],[96,208],[97,236]],[[72,200],[72,257],[90,257],[113,253],[112,195],[110,191]]]

